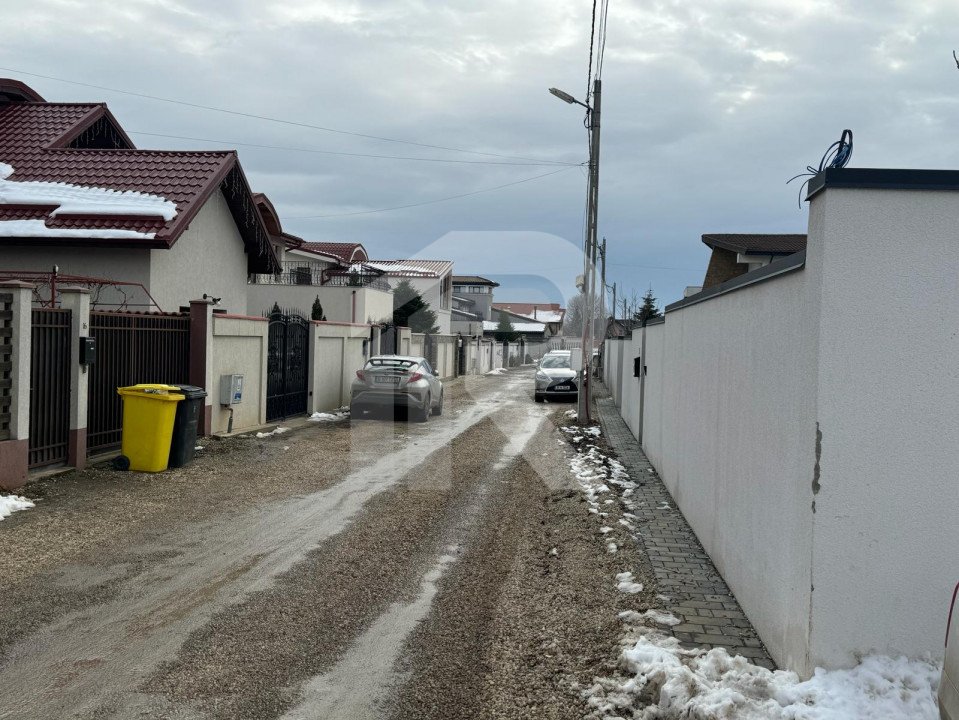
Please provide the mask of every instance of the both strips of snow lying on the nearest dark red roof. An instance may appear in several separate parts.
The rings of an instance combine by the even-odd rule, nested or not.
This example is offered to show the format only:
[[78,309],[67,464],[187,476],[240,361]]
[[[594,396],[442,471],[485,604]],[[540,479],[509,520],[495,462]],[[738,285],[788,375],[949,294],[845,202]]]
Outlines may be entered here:
[[[176,203],[159,195],[133,190],[84,187],[61,182],[10,180],[14,169],[0,162],[0,205],[54,206],[50,217],[57,215],[124,215],[176,217]],[[156,233],[116,228],[48,228],[43,220],[4,220],[0,237],[101,237],[151,239]]]

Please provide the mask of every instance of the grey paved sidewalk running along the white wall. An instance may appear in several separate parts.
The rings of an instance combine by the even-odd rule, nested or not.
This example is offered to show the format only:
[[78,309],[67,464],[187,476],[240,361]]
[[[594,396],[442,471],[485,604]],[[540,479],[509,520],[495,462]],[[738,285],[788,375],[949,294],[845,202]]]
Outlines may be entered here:
[[[597,387],[598,386],[598,387]],[[757,665],[774,669],[762,641],[739,603],[703,550],[686,518],[599,383],[594,385],[597,417],[603,434],[626,465],[630,478],[641,483],[635,497],[644,504],[639,517],[640,542],[653,566],[660,592],[669,597],[670,612],[683,620],[672,628],[686,647],[724,647]]]

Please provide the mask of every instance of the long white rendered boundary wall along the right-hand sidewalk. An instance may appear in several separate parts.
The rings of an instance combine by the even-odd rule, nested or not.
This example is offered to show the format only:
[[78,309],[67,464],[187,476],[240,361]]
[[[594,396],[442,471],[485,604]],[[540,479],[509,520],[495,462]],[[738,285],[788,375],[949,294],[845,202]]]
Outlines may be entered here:
[[607,343],[623,416],[780,665],[941,657],[957,317],[959,193],[827,187],[805,267]]

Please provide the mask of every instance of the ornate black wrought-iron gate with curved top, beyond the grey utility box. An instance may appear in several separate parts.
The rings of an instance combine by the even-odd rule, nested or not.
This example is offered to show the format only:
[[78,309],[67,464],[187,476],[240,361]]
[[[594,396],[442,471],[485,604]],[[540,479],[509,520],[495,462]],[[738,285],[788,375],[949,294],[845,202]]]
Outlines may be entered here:
[[307,408],[310,362],[310,324],[297,313],[284,313],[274,305],[266,379],[266,419],[302,415]]

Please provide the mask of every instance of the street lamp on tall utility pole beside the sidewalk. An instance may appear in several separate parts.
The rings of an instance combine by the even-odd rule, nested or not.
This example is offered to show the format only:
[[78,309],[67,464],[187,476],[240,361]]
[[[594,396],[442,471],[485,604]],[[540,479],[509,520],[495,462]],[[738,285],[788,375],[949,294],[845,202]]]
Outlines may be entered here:
[[587,212],[587,231],[584,255],[586,261],[585,278],[583,282],[583,292],[586,294],[583,312],[583,377],[580,381],[578,397],[578,416],[581,423],[589,421],[589,401],[590,401],[590,365],[593,361],[593,316],[596,314],[594,307],[596,287],[596,227],[597,216],[599,212],[599,109],[602,99],[602,82],[593,80],[593,105],[589,106],[580,102],[572,95],[556,88],[550,88],[550,93],[565,103],[570,105],[582,105],[586,108],[589,119],[589,187],[586,194],[588,206]]

